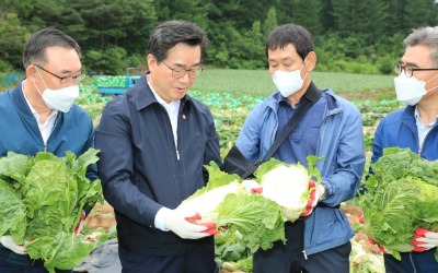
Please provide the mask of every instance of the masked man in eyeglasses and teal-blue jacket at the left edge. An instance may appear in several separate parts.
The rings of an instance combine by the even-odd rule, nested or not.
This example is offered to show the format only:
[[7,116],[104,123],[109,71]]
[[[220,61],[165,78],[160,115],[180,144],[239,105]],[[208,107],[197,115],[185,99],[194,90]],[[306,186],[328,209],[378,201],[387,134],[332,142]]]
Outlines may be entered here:
[[[64,157],[67,151],[79,156],[92,147],[92,120],[74,105],[83,78],[80,54],[79,45],[58,29],[45,28],[28,38],[23,54],[26,78],[0,95],[0,157],[8,152],[31,156],[50,152]],[[95,165],[87,177],[96,179]],[[42,260],[31,260],[23,241],[15,242],[5,234],[0,237],[0,272],[47,271]]]

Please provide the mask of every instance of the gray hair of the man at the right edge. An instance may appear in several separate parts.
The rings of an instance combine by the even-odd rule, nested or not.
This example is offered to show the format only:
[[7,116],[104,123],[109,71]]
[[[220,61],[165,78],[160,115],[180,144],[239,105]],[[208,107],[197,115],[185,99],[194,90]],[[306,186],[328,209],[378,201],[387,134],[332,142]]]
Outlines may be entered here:
[[430,60],[438,68],[438,26],[427,26],[412,29],[412,33],[403,40],[406,47],[430,47]]

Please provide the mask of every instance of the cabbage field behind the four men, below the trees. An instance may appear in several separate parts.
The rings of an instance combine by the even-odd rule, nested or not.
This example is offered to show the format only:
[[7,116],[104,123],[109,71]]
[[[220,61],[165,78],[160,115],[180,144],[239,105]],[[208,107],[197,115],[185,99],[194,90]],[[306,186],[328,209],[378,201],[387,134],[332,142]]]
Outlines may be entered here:
[[[365,146],[369,162],[378,121],[385,114],[401,107],[392,90],[393,76],[314,73],[313,79],[320,88],[331,86],[359,108],[364,119]],[[111,96],[97,93],[97,82],[99,76],[87,78],[81,83],[78,100],[91,115],[95,126],[99,124],[102,108],[112,99]],[[222,157],[233,145],[251,109],[273,90],[274,85],[266,71],[206,70],[199,76],[189,95],[210,107],[220,136]],[[356,232],[351,240],[350,272],[383,272],[380,250],[368,242],[358,223],[362,210],[357,203],[357,200],[350,200],[342,205]],[[84,234],[89,240],[101,244],[115,237],[115,224],[112,207],[106,203],[97,204],[87,218]],[[222,273],[251,272],[251,260],[246,253],[239,252],[238,246],[226,245],[227,238],[218,236],[216,241],[217,249],[220,250],[217,251],[217,257],[221,262]]]

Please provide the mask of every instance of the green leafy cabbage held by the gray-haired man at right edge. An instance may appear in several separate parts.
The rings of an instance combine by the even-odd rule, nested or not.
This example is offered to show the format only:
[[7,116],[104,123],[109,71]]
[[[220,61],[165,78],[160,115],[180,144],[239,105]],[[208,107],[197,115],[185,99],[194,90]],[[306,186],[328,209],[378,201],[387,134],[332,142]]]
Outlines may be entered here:
[[[388,147],[372,166],[360,195],[365,232],[395,258],[414,249],[417,227],[438,230],[438,161]],[[438,251],[436,252],[438,261]]]

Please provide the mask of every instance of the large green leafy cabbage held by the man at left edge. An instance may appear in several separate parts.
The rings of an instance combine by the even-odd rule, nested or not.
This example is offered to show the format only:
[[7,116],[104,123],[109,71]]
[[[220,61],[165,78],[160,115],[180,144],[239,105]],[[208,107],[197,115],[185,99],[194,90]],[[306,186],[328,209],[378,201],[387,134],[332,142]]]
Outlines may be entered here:
[[84,207],[103,202],[101,182],[85,177],[96,154],[94,149],[79,157],[71,152],[65,157],[10,152],[0,158],[0,236],[24,244],[50,273],[73,269],[93,248],[73,230]]

